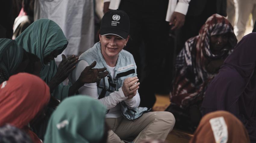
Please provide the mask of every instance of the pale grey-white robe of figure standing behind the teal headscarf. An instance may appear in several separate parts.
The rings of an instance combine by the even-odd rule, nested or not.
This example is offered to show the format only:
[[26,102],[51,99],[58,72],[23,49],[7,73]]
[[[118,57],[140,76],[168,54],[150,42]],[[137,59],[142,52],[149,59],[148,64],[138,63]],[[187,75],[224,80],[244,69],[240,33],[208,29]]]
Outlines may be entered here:
[[[80,55],[94,44],[94,0],[35,0],[34,20],[47,18],[57,23],[69,42],[62,52]],[[61,62],[61,54],[55,59]]]

